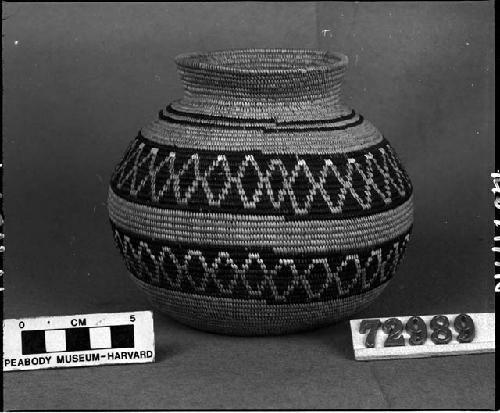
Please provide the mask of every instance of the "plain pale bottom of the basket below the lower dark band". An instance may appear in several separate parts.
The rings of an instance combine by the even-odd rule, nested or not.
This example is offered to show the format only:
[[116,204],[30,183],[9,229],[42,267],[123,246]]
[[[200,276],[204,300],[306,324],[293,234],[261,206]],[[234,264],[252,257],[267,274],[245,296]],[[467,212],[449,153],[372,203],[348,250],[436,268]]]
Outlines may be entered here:
[[129,275],[160,312],[199,330],[235,336],[280,335],[326,326],[365,308],[387,286],[328,302],[268,305],[171,291]]

